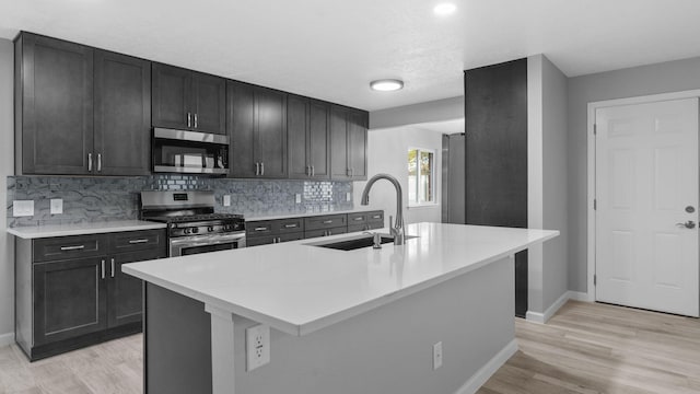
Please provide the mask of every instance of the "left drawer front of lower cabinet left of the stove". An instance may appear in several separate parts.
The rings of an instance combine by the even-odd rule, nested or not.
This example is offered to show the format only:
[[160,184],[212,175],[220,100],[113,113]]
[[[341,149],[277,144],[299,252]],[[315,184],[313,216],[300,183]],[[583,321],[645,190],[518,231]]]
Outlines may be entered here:
[[34,240],[34,262],[51,262],[106,255],[105,234],[70,235]]

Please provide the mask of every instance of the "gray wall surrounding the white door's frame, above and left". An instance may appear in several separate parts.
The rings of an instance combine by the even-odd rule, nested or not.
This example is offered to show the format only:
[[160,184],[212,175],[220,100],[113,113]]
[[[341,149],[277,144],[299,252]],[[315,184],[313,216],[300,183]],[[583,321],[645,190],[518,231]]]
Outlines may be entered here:
[[700,89],[700,58],[569,79],[569,289],[587,286],[587,103]]

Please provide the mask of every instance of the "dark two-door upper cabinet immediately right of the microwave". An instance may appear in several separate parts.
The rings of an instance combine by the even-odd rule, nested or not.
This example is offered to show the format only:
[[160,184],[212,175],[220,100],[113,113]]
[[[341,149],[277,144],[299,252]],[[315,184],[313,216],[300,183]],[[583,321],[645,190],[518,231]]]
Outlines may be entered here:
[[287,177],[287,93],[229,81],[230,177]]

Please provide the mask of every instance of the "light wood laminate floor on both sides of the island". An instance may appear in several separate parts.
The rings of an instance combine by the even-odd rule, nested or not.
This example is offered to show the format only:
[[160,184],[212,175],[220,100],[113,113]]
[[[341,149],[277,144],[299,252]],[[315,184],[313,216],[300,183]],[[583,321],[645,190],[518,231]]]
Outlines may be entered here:
[[[570,301],[545,325],[515,326],[520,350],[479,394],[700,393],[697,318]],[[142,363],[141,335],[33,363],[7,346],[0,393],[141,393]]]

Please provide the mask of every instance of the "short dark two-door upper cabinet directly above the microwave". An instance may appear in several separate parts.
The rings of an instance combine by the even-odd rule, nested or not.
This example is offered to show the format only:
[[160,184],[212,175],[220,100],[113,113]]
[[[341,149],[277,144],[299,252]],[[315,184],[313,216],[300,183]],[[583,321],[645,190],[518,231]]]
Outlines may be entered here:
[[226,134],[223,78],[153,63],[153,126]]

